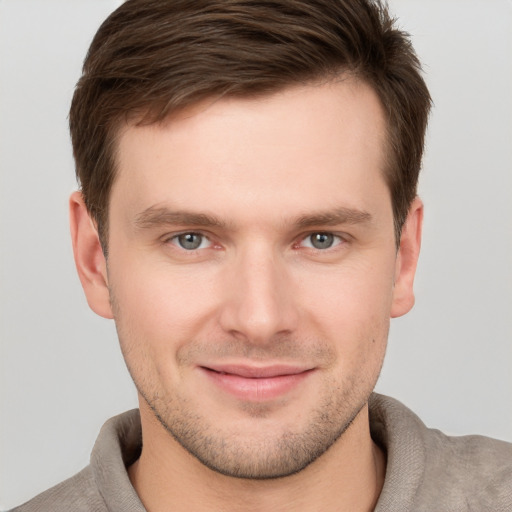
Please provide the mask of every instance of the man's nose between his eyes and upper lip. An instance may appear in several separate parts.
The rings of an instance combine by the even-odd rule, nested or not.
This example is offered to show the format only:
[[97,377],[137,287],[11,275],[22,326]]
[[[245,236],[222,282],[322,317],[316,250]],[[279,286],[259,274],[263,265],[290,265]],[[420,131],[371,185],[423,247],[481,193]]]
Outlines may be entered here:
[[286,263],[271,251],[247,251],[229,270],[220,324],[251,344],[266,344],[297,328],[299,314]]

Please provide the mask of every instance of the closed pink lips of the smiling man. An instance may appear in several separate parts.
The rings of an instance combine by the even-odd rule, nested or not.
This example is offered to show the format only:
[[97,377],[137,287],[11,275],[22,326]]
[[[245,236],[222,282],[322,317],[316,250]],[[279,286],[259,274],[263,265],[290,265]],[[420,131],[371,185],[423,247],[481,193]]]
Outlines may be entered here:
[[203,374],[222,392],[247,401],[273,400],[293,393],[313,372],[289,365],[209,365]]

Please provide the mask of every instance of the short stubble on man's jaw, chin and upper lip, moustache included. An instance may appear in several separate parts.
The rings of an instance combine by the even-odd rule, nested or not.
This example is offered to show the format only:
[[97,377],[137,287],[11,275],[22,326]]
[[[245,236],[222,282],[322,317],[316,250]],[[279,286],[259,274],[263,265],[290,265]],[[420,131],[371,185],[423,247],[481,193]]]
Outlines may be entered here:
[[[370,373],[363,369],[356,370],[351,378],[341,381],[326,377],[318,403],[309,411],[307,421],[298,427],[292,425],[282,428],[280,432],[258,432],[257,437],[248,438],[245,432],[230,430],[229,426],[219,428],[217,417],[208,418],[202,415],[197,404],[196,407],[193,403],[191,405],[190,397],[180,395],[176,390],[166,390],[159,385],[158,378],[155,378],[158,375],[156,368],[147,352],[141,351],[144,343],[138,343],[133,336],[124,336],[127,332],[123,333],[118,314],[115,316],[128,371],[156,419],[179,445],[204,466],[234,478],[283,478],[302,471],[317,460],[343,436],[368,403],[384,358],[383,351],[380,361]],[[128,340],[130,342],[125,343]],[[178,360],[181,359],[184,367],[194,359],[195,354],[211,353],[212,346],[220,348],[220,352],[226,355],[257,355],[263,360],[279,356],[291,356],[293,359],[297,354],[304,358],[307,352],[295,340],[281,340],[272,345],[278,347],[277,349],[261,349],[229,342],[220,345],[210,342],[191,345],[191,348],[185,350],[185,355],[178,355]],[[315,347],[309,351],[312,361],[333,364],[337,357],[326,343],[315,342],[308,346]],[[130,354],[132,351],[136,353]],[[244,412],[255,422],[260,421],[265,425],[264,420],[271,417],[273,407],[268,404],[248,403],[244,405]]]

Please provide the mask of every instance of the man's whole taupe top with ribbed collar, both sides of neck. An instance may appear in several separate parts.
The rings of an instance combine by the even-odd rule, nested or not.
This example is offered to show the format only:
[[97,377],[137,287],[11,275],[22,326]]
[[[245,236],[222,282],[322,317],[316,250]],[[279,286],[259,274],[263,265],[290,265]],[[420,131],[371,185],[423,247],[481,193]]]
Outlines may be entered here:
[[[512,444],[445,436],[425,427],[400,402],[378,394],[370,400],[370,425],[387,454],[375,512],[512,511]],[[145,512],[126,471],[139,456],[141,441],[138,410],[110,419],[89,466],[12,512]]]

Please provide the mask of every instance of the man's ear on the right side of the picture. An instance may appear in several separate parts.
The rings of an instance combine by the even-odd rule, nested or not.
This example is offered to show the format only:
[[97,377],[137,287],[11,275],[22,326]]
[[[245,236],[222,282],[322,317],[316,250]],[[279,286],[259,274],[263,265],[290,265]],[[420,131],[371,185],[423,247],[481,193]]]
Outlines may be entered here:
[[402,228],[400,247],[395,264],[395,286],[391,305],[391,318],[405,315],[414,306],[414,276],[420,255],[423,203],[417,197],[409,208]]

